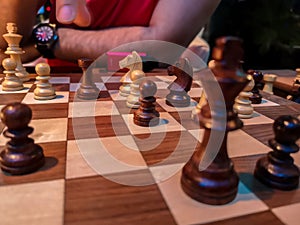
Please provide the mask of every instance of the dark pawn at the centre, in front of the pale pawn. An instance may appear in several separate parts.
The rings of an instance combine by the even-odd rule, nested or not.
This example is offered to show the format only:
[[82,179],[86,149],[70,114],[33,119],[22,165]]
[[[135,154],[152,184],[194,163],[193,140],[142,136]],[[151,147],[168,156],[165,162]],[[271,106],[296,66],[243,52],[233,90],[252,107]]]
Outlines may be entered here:
[[151,80],[144,80],[140,85],[140,107],[134,112],[133,122],[143,127],[151,127],[159,124],[159,112],[155,110],[157,91],[156,84]]

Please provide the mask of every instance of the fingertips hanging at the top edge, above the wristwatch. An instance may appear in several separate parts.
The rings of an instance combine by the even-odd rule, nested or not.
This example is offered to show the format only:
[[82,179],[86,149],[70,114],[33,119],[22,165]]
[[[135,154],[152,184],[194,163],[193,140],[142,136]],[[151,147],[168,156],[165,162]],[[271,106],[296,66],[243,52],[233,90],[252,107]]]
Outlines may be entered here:
[[86,0],[56,0],[56,18],[60,23],[74,23],[81,27],[91,23]]

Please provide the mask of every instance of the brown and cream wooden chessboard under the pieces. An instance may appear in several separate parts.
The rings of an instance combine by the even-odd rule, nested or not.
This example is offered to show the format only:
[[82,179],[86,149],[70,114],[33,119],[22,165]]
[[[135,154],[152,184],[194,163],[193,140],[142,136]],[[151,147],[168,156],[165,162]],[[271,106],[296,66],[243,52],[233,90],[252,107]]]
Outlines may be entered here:
[[[94,73],[101,77],[101,97],[92,107],[74,102],[80,73],[53,73],[57,98],[49,101],[33,99],[34,80],[22,91],[0,90],[0,108],[14,101],[30,106],[32,137],[46,156],[44,167],[32,174],[0,174],[0,224],[298,224],[300,189],[268,188],[253,170],[271,150],[267,141],[274,119],[299,116],[300,105],[263,93],[255,116],[229,134],[229,155],[240,177],[238,195],[229,204],[210,206],[192,200],[180,186],[181,168],[203,134],[190,119],[200,83],[194,81],[189,93],[191,106],[175,109],[165,104],[174,77],[162,69],[147,73],[158,86],[161,119],[149,129],[133,124],[132,111],[118,94],[124,73]],[[1,149],[6,142],[1,135]],[[300,165],[300,153],[293,157]]]

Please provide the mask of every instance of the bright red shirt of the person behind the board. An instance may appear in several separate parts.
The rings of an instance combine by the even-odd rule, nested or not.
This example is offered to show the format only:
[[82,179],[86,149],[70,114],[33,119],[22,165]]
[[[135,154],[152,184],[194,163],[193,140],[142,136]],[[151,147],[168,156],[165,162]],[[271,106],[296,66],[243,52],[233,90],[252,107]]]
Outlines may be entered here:
[[[148,26],[158,1],[159,0],[86,0],[87,7],[92,16],[92,24],[88,29],[95,30],[119,26]],[[55,7],[55,1],[53,1],[53,6]],[[53,21],[55,18],[55,10],[52,10],[52,12],[51,20]],[[74,25],[72,27],[74,27]]]

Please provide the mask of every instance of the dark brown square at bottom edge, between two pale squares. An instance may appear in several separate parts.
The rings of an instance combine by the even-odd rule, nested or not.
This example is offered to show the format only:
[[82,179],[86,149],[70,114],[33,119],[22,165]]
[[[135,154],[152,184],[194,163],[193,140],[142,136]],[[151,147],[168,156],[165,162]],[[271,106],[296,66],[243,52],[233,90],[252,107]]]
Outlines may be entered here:
[[[153,180],[149,171],[117,175]],[[101,176],[67,180],[65,208],[66,224],[176,224],[156,185],[122,185]]]

